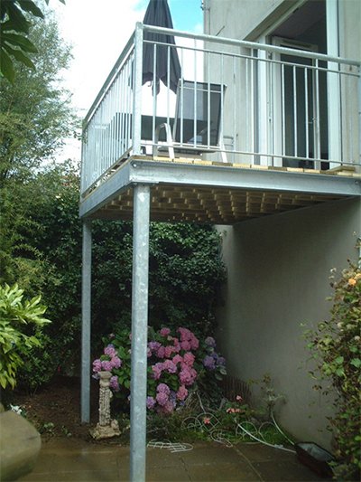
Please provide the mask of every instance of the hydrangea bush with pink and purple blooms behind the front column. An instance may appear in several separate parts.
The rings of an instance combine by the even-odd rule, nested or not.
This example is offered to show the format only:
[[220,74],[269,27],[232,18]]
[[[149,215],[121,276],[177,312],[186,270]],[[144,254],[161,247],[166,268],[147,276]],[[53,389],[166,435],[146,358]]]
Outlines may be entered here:
[[[200,381],[221,380],[226,360],[216,352],[214,338],[203,343],[188,328],[174,333],[168,327],[150,330],[148,342],[148,388],[146,405],[150,411],[169,414],[184,405],[190,391]],[[131,336],[128,330],[104,340],[104,354],[93,362],[94,376],[106,370],[112,373],[110,387],[117,397],[126,399],[130,388]]]

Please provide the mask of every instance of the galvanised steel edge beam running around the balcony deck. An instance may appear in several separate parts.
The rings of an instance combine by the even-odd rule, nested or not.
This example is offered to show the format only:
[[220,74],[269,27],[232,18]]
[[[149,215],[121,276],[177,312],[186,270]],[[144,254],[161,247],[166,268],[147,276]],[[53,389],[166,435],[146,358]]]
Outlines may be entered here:
[[339,197],[361,195],[361,178],[352,176],[152,161],[134,156],[80,203],[80,217],[95,215],[134,184],[173,184]]

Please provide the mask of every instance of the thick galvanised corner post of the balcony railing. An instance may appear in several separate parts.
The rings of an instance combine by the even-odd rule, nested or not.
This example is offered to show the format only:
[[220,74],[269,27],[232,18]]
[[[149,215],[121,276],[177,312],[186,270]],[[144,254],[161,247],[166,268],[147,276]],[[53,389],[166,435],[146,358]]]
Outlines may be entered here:
[[138,22],[134,36],[134,98],[133,98],[133,152],[141,154],[142,78],[143,78],[143,24]]

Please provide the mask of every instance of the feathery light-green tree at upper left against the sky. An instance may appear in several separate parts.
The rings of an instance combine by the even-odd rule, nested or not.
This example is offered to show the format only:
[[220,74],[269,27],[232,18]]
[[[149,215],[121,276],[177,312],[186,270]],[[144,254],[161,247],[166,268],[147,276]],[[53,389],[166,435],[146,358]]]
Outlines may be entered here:
[[77,126],[70,94],[60,83],[60,71],[71,58],[69,46],[51,17],[34,24],[30,37],[38,50],[37,70],[16,66],[14,85],[0,79],[0,186],[35,175]]

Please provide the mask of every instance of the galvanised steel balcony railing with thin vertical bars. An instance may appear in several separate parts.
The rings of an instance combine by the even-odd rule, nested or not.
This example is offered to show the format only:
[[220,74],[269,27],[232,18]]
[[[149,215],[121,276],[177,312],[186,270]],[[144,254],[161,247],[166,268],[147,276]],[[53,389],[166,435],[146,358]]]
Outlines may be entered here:
[[[194,83],[190,109],[179,108],[180,92],[177,99],[170,75],[157,94],[158,52],[166,49],[171,68],[174,46],[144,40],[144,33],[174,35],[180,92]],[[143,86],[145,43],[153,45],[154,73],[153,85]],[[153,156],[154,147],[163,156],[359,170],[360,86],[359,61],[137,24],[84,120],[81,194],[94,189],[129,156]],[[209,134],[215,90],[218,146]],[[178,132],[194,135],[175,138],[175,122]],[[160,124],[166,128],[158,136]]]

